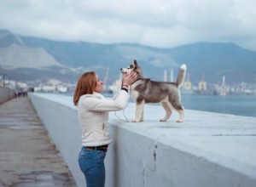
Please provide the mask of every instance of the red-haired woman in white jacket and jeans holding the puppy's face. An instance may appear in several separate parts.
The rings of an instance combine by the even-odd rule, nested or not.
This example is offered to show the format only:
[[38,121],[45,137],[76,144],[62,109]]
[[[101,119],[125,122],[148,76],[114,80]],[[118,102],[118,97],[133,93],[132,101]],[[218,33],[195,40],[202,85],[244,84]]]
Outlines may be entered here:
[[79,167],[84,173],[87,187],[103,187],[105,184],[104,159],[111,143],[108,133],[108,111],[122,110],[129,99],[128,88],[137,80],[137,74],[125,75],[122,87],[113,99],[105,99],[103,83],[94,71],[86,72],[77,83],[73,104],[79,109],[82,128],[82,149]]

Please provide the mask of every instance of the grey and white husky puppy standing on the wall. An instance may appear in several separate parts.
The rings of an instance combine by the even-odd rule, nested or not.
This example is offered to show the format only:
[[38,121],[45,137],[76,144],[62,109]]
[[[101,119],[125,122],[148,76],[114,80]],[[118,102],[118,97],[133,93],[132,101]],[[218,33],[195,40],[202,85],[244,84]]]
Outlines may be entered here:
[[161,103],[166,111],[166,116],[160,119],[160,122],[166,122],[170,118],[172,109],[179,114],[177,122],[183,122],[184,108],[180,102],[179,88],[183,85],[186,69],[186,65],[181,65],[176,82],[154,82],[143,78],[143,71],[137,64],[137,60],[133,60],[132,65],[121,68],[122,74],[129,75],[132,71],[137,72],[137,81],[130,87],[131,98],[136,102],[136,116],[132,122],[143,122],[145,103]]

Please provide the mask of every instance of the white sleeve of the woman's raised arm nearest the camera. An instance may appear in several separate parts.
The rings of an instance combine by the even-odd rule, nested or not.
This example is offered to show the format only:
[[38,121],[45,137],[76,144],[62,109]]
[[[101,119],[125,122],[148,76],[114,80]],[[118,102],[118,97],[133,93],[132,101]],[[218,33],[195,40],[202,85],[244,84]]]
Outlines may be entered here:
[[86,97],[82,102],[89,111],[119,111],[125,107],[128,99],[129,94],[125,90],[120,90],[113,99]]

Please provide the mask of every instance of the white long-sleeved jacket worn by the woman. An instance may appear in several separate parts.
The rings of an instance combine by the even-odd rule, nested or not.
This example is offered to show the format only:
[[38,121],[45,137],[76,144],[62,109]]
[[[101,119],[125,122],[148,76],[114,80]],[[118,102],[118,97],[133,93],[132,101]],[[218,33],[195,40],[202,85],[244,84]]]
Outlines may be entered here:
[[125,90],[120,90],[113,99],[102,94],[84,94],[79,98],[79,123],[82,128],[83,146],[110,144],[108,133],[108,111],[122,110],[129,99]]

